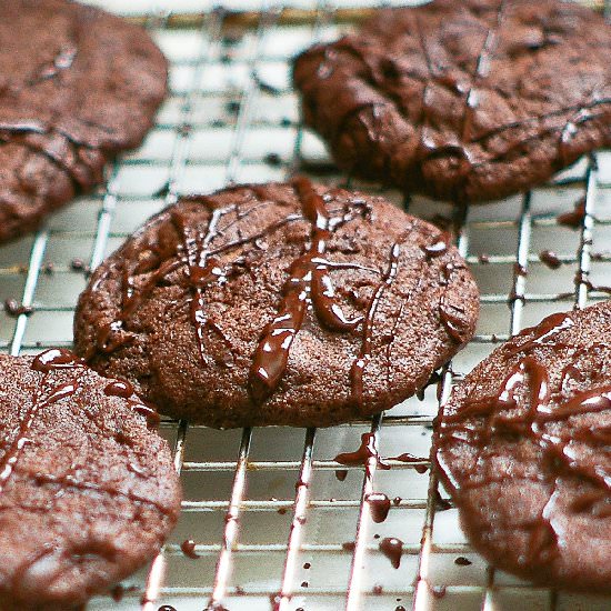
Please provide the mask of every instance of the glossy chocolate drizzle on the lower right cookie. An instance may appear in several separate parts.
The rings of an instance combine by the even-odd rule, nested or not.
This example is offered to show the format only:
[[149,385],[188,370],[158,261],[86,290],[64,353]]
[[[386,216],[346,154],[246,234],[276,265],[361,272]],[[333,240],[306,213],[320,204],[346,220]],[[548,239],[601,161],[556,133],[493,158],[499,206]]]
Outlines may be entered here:
[[[594,352],[601,344],[588,349],[574,349],[559,341],[563,332],[573,327],[570,313],[552,314],[534,328],[524,330],[519,337],[528,340],[519,343],[512,340],[504,349],[505,353],[518,360],[494,394],[467,398],[461,408],[445,413],[440,423],[440,448],[452,443],[469,443],[475,448],[480,458],[490,452],[494,441],[512,443],[528,440],[534,444],[542,460],[541,481],[549,489],[549,498],[537,518],[522,527],[530,533],[529,558],[527,562],[550,562],[559,553],[562,543],[561,532],[554,528],[554,511],[558,501],[559,482],[563,479],[577,479],[584,482],[585,490],[577,492],[572,504],[574,512],[589,511],[593,515],[611,517],[611,472],[601,461],[584,460],[580,448],[588,451],[608,452],[611,447],[609,425],[580,424],[579,417],[611,411],[611,383],[594,385],[587,390],[571,390],[571,381],[584,380],[580,358],[584,350]],[[550,372],[538,360],[535,351],[551,350],[554,353],[571,353],[571,361],[560,372],[558,390],[552,390]],[[554,384],[555,388],[555,384]],[[559,424],[570,420],[567,430]],[[491,483],[474,478],[458,483],[452,479],[454,492],[479,488]]]

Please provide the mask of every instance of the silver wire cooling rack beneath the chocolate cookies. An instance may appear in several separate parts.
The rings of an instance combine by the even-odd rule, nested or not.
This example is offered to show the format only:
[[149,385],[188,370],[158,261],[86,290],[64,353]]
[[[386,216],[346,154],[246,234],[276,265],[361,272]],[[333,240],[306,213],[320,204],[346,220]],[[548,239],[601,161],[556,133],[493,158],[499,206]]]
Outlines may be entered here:
[[[36,236],[0,249],[0,300],[32,310],[13,318],[16,304],[8,303],[0,311],[0,349],[13,354],[70,347],[87,267],[181,193],[281,180],[296,170],[345,182],[321,142],[301,129],[289,60],[314,40],[350,29],[367,9],[339,1],[283,8],[254,1],[224,8],[194,0],[154,8],[148,0],[97,3],[151,30],[171,61],[171,96],[143,147],[109,169],[103,190],[57,213]],[[424,218],[452,213],[424,199],[387,196]],[[559,224],[558,214],[582,198],[578,226]],[[89,608],[610,609],[609,598],[533,588],[489,569],[464,540],[444,492],[439,495],[428,457],[439,400],[497,342],[548,313],[608,297],[611,153],[581,160],[525,196],[473,207],[458,243],[478,279],[482,314],[478,334],[442,371],[438,389],[373,420],[317,431],[213,431],[163,421],[184,487],[181,520],[147,571]],[[540,261],[548,249],[559,258],[553,271]],[[388,460],[390,471],[375,471],[372,461],[371,478],[363,468],[335,473],[344,468],[333,457],[355,449],[363,432],[375,435],[382,457],[427,458]],[[382,523],[371,519],[371,492],[393,499]],[[380,553],[383,538],[403,542],[398,569]],[[197,559],[182,552],[186,540],[194,541]]]

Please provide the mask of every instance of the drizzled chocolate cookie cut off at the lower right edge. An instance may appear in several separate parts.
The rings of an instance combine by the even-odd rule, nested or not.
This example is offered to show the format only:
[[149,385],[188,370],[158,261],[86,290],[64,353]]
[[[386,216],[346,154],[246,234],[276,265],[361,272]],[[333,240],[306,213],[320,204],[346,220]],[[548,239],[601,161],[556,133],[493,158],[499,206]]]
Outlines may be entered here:
[[552,314],[453,390],[434,443],[469,539],[492,564],[611,590],[611,302]]

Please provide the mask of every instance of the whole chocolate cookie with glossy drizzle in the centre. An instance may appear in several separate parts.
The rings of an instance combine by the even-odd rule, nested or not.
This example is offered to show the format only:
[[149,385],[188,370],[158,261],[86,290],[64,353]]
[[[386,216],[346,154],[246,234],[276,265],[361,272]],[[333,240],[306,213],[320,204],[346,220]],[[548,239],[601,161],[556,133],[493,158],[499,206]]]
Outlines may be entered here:
[[93,273],[76,345],[163,413],[329,425],[391,408],[472,335],[448,236],[379,197],[230,188],[153,217]]

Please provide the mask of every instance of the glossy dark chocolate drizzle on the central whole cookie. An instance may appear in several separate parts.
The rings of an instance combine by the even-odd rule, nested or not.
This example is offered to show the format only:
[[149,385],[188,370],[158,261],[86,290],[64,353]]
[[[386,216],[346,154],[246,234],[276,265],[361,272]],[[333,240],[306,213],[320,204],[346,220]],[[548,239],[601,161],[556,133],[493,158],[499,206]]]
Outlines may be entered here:
[[[362,201],[354,200],[340,210],[329,211],[323,197],[319,196],[306,178],[292,180],[293,189],[301,204],[300,213],[287,214],[257,233],[246,234],[238,231],[238,237],[230,239],[227,230],[237,223],[246,224],[254,209],[271,206],[272,202],[260,201],[251,209],[242,211],[238,206],[228,206],[211,211],[210,221],[204,231],[197,231],[192,221],[180,208],[168,213],[179,242],[168,244],[149,244],[149,257],[129,268],[126,263],[121,283],[121,308],[116,320],[108,322],[99,331],[97,347],[103,353],[111,353],[129,343],[132,334],[129,321],[136,314],[151,292],[166,282],[169,274],[181,276],[191,292],[189,299],[190,318],[196,330],[199,353],[202,361],[214,358],[218,363],[232,367],[233,347],[223,333],[219,322],[207,313],[206,290],[210,286],[221,286],[230,279],[237,267],[242,266],[240,257],[227,263],[220,256],[244,244],[264,243],[266,236],[281,227],[298,220],[307,220],[310,226],[309,240],[304,250],[289,267],[280,306],[272,321],[263,329],[258,347],[252,357],[248,388],[254,403],[264,402],[278,388],[284,374],[291,345],[299,333],[309,310],[325,329],[338,333],[359,333],[361,348],[350,368],[350,392],[358,405],[363,401],[363,373],[371,360],[373,325],[377,309],[383,293],[394,281],[399,271],[400,244],[394,243],[389,251],[385,270],[378,270],[357,263],[338,263],[327,259],[327,247],[338,227],[357,216],[365,218],[369,208]],[[253,188],[257,194],[257,189]],[[224,220],[231,216],[231,220]],[[264,244],[263,244],[264,246]],[[172,248],[174,249],[172,251]],[[449,248],[449,234],[443,234],[434,243],[424,247],[427,258],[438,258]],[[169,249],[169,250],[168,250]],[[358,269],[379,278],[363,315],[347,315],[335,293],[331,279],[334,269]],[[176,281],[176,280],[172,280]],[[449,332],[460,335],[460,317],[440,306],[440,315]],[[207,343],[210,334],[214,335],[222,349],[211,354]],[[391,338],[392,341],[393,338]],[[387,347],[388,351],[388,347]]]

